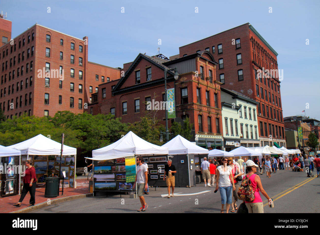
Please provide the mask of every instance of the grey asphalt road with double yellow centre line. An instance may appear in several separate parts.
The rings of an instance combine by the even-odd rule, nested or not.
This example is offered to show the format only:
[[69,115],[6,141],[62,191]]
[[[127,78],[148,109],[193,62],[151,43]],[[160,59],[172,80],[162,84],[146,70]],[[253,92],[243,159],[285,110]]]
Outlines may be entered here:
[[[274,208],[269,208],[267,199],[260,193],[264,201],[264,213],[319,213],[320,212],[320,178],[306,177],[305,172],[278,170],[271,178],[261,176],[263,188],[274,200]],[[199,193],[203,191],[209,191]],[[167,194],[166,188],[150,188],[145,196],[149,207],[145,212],[137,212],[139,199],[131,199],[128,195],[109,197],[88,197],[50,205],[32,213],[220,213],[221,199],[219,191],[197,184],[192,188],[175,188],[175,194],[192,194],[173,198],[161,197]],[[239,205],[239,202],[237,203]],[[225,211],[226,212],[226,211]],[[230,213],[230,212],[229,212]]]

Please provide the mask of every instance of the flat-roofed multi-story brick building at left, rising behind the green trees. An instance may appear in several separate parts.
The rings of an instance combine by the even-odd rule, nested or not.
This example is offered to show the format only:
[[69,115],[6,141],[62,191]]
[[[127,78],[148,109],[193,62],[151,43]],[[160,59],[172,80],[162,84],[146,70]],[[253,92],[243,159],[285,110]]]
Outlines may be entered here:
[[88,37],[39,24],[4,44],[0,54],[0,108],[7,118],[83,113],[98,85],[120,76],[120,68],[88,61]]

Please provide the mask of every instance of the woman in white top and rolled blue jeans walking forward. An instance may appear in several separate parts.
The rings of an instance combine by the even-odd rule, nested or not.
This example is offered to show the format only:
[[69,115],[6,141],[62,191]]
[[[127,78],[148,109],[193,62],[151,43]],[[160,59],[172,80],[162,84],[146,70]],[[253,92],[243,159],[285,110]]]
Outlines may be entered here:
[[[235,190],[235,184],[233,180],[230,180],[232,176],[231,166],[227,166],[228,158],[222,158],[223,165],[217,168],[217,186],[216,190],[219,189],[221,195],[221,213],[224,213],[224,204],[227,203],[227,213],[229,212],[230,204],[232,203],[232,192]],[[231,186],[232,185],[232,186]]]

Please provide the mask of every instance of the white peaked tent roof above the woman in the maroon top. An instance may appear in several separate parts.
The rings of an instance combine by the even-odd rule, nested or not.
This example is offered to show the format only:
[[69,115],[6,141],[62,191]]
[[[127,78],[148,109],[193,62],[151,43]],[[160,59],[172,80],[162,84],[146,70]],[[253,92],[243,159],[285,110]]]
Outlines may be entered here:
[[[21,151],[21,155],[60,155],[61,144],[41,134],[8,148]],[[63,145],[62,155],[76,155],[77,149]]]

